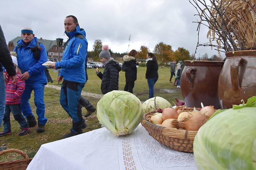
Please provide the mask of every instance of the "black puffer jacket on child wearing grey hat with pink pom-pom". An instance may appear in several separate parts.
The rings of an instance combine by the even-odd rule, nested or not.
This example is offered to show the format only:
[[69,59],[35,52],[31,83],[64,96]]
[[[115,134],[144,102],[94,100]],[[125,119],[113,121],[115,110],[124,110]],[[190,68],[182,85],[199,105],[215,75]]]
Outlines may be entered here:
[[99,72],[97,75],[101,81],[101,92],[106,94],[113,90],[118,90],[119,72],[121,66],[118,62],[112,60],[105,65],[103,74]]

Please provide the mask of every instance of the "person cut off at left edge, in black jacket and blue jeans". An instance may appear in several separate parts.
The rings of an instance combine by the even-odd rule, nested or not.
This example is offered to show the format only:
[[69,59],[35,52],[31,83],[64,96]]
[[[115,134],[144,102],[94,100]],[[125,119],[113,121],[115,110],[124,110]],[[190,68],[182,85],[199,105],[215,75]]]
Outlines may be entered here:
[[15,83],[17,81],[16,70],[13,65],[12,57],[4,38],[4,32],[0,25],[0,126],[2,124],[4,117],[6,97],[3,66],[8,72],[8,75],[12,77],[12,84]]

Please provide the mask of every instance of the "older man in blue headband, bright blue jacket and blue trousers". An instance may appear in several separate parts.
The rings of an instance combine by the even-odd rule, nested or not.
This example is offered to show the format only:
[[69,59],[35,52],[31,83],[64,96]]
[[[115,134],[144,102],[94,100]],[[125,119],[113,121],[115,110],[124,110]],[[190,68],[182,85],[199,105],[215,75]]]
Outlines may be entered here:
[[47,52],[43,44],[37,44],[37,38],[30,28],[21,30],[21,38],[18,41],[18,46],[13,50],[17,53],[18,65],[22,72],[20,78],[26,82],[25,91],[21,95],[20,109],[27,118],[28,126],[36,126],[36,119],[28,102],[32,90],[34,90],[34,101],[38,116],[36,131],[41,133],[45,131],[45,124],[47,122],[47,118],[44,117],[44,86],[47,80],[44,72],[45,67],[42,66],[48,60]]

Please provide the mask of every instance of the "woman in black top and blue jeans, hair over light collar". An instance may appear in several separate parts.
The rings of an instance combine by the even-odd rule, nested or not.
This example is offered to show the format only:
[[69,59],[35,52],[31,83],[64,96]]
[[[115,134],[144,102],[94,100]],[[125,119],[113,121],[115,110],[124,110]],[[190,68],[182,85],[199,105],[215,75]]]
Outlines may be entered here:
[[146,79],[148,79],[149,99],[154,97],[154,85],[158,80],[158,63],[153,53],[147,54],[147,71]]

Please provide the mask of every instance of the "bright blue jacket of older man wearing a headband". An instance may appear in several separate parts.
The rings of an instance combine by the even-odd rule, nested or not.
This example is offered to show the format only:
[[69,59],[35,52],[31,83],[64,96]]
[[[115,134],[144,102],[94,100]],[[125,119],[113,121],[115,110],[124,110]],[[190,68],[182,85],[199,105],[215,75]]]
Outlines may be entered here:
[[39,44],[41,47],[39,60],[35,59],[34,53],[30,51],[30,47],[35,47],[36,42],[37,38],[34,37],[28,46],[26,46],[24,41],[20,39],[18,41],[18,46],[20,47],[17,50],[18,46],[16,46],[13,50],[17,53],[18,66],[21,72],[25,73],[27,71],[30,76],[28,80],[26,80],[26,84],[47,83],[44,72],[45,67],[42,66],[42,64],[48,60],[44,45],[41,43]]

